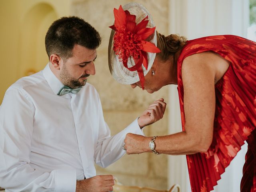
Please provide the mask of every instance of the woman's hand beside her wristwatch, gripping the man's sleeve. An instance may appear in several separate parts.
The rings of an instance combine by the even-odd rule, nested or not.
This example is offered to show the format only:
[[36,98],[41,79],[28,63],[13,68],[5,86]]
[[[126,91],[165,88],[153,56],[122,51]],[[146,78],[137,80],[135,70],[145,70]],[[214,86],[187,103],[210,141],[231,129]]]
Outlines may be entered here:
[[149,142],[149,137],[128,133],[124,139],[124,148],[127,154],[150,152]]

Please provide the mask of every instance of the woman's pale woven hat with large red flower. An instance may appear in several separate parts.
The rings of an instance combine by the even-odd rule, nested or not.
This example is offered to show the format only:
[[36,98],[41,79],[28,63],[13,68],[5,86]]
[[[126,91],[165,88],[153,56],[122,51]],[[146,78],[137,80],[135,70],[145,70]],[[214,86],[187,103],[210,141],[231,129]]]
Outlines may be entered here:
[[114,8],[114,25],[108,46],[108,66],[114,79],[122,84],[140,81],[144,89],[144,76],[154,63],[156,30],[148,10],[138,3]]

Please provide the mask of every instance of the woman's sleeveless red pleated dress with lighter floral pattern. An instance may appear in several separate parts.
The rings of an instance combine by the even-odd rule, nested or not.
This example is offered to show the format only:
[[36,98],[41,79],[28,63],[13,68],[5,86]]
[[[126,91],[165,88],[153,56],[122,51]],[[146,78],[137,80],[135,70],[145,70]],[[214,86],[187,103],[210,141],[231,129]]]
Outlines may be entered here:
[[186,156],[192,192],[213,190],[244,141],[248,143],[248,151],[241,191],[256,192],[256,42],[233,35],[187,41],[177,64],[183,131],[186,117],[182,62],[187,56],[205,51],[215,52],[231,64],[215,85],[216,111],[212,144],[206,153]]

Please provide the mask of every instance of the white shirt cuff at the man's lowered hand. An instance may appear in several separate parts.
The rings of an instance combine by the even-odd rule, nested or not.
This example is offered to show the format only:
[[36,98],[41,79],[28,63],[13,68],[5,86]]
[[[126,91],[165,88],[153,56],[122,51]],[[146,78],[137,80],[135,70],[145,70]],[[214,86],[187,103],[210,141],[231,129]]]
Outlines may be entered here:
[[56,170],[55,192],[76,192],[76,170]]

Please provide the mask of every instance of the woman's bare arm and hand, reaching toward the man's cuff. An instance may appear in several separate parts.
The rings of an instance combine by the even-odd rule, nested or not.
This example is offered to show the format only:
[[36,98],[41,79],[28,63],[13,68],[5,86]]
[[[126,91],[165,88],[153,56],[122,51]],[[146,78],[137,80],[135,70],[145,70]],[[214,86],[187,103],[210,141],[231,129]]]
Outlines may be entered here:
[[[215,113],[215,64],[219,58],[207,52],[187,57],[182,65],[184,85],[185,131],[155,140],[157,152],[163,154],[194,154],[206,152],[212,143]],[[151,152],[152,137],[127,134],[127,154]]]

